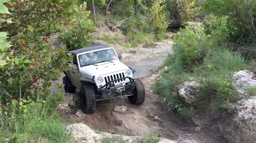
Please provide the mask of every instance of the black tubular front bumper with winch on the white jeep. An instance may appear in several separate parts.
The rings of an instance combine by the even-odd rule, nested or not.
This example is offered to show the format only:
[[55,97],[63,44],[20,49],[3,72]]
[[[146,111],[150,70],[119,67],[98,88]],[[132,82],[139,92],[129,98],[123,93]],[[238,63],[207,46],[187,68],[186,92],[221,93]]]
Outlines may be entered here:
[[[115,81],[126,80],[126,78],[129,79],[129,82],[114,85]],[[107,82],[103,87],[98,89],[98,92],[102,93],[101,98],[113,98],[118,96],[122,97],[126,95],[127,92],[133,91],[135,86],[136,86],[136,83],[133,78],[123,77],[123,78],[118,78],[117,80],[112,80]]]

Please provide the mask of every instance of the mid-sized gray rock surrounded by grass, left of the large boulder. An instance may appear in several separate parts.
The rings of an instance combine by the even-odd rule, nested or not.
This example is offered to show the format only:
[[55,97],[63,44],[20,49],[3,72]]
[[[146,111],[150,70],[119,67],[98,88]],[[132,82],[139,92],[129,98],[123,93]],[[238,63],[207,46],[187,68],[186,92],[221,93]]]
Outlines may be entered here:
[[197,97],[194,89],[197,87],[199,87],[199,83],[197,81],[186,81],[183,84],[178,85],[178,95],[184,102],[194,104]]

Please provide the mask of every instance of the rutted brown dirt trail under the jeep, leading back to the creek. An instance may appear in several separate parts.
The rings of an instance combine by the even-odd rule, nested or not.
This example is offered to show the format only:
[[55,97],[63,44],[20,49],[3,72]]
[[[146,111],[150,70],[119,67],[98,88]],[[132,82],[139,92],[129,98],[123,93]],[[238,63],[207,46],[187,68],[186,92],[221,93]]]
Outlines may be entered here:
[[[110,99],[97,102],[95,113],[85,117],[76,117],[78,106],[62,113],[62,118],[69,123],[84,123],[95,131],[114,134],[139,135],[153,128],[160,137],[177,141],[223,142],[208,127],[199,127],[192,121],[180,119],[170,110],[163,99],[153,94],[150,85],[157,80],[159,74],[151,69],[159,66],[172,50],[172,40],[156,43],[156,48],[131,49],[132,53],[124,53],[124,63],[137,68],[136,77],[140,77],[145,85],[145,102],[132,105],[127,98]],[[142,77],[143,76],[143,77]],[[77,95],[78,96],[78,93]],[[78,103],[77,103],[78,105]],[[114,112],[115,106],[127,106],[125,113]],[[158,116],[160,120],[154,120]]]

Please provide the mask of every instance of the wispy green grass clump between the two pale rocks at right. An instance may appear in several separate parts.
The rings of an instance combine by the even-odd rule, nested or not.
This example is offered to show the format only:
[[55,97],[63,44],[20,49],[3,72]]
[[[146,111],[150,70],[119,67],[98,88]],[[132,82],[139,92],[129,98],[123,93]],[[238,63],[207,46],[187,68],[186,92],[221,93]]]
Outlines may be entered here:
[[213,110],[230,109],[230,104],[239,98],[232,86],[232,75],[246,68],[247,63],[239,53],[227,48],[211,51],[204,63],[194,69],[200,81],[197,106],[205,108],[211,104]]

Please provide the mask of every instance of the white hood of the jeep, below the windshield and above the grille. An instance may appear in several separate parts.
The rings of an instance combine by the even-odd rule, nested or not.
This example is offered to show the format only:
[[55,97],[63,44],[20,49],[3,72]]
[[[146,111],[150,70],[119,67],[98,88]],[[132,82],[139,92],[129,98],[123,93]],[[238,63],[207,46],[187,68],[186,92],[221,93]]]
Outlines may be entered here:
[[98,77],[102,76],[105,74],[110,74],[122,70],[128,70],[129,67],[124,65],[124,63],[115,61],[115,62],[102,62],[102,63],[97,63],[95,65],[90,65],[86,67],[82,67],[80,70],[80,74],[85,75],[85,76],[90,76],[91,78],[93,76]]

